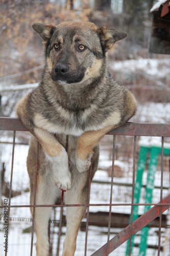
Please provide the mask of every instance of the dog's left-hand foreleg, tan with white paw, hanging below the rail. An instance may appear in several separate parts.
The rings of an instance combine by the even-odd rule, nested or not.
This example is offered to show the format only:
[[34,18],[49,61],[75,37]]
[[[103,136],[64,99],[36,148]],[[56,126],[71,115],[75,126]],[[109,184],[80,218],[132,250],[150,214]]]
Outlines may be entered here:
[[68,168],[68,155],[56,137],[40,128],[34,129],[34,136],[42,145],[46,158],[52,163],[54,182],[57,187],[68,190],[71,187],[71,174]]

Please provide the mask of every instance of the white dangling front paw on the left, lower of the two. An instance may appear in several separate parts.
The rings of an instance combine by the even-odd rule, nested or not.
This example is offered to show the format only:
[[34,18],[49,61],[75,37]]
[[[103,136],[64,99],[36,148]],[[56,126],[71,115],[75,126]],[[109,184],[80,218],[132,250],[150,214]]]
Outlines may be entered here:
[[71,174],[70,174],[70,172],[68,171],[67,174],[65,174],[65,175],[61,175],[59,173],[54,174],[54,183],[61,190],[69,190],[71,188]]

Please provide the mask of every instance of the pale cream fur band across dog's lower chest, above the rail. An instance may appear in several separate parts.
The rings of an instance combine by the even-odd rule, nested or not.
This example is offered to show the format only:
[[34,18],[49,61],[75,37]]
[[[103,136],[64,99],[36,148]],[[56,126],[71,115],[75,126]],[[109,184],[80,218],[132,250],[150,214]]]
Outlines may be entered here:
[[36,126],[49,131],[53,134],[67,134],[80,136],[86,131],[97,131],[105,128],[109,124],[120,121],[120,113],[114,111],[110,113],[107,109],[91,105],[85,110],[71,111],[61,106],[51,115],[51,110],[45,110],[45,113],[36,113],[34,123]]

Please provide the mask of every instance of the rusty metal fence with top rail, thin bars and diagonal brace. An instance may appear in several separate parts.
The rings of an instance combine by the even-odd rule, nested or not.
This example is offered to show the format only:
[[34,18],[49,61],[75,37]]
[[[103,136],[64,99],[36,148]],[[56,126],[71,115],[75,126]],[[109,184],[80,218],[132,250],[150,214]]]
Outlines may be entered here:
[[[10,217],[10,208],[12,207],[33,207],[33,221],[32,221],[32,236],[31,236],[31,249],[30,256],[33,255],[33,241],[34,241],[34,220],[35,220],[35,208],[36,207],[60,207],[60,223],[59,223],[59,237],[58,237],[58,247],[57,255],[59,255],[60,250],[60,236],[61,236],[61,223],[62,223],[62,211],[63,207],[79,207],[87,206],[87,221],[86,221],[86,236],[85,236],[85,251],[84,255],[87,254],[87,239],[88,239],[88,222],[89,222],[89,206],[109,206],[109,222],[108,222],[108,239],[107,243],[95,251],[92,255],[109,255],[110,252],[114,251],[118,246],[122,245],[125,241],[129,239],[129,255],[131,255],[131,238],[132,236],[141,230],[144,226],[149,224],[156,217],[159,218],[159,233],[158,233],[158,253],[160,255],[160,243],[161,243],[161,222],[162,213],[170,207],[170,195],[162,198],[163,191],[163,145],[164,137],[170,137],[170,124],[145,124],[145,123],[127,123],[123,127],[119,127],[114,131],[108,133],[113,135],[113,152],[112,152],[112,176],[111,176],[111,188],[110,188],[110,203],[109,204],[90,204],[90,186],[91,186],[91,168],[90,168],[90,178],[89,178],[89,194],[87,204],[63,204],[64,191],[62,191],[62,198],[60,205],[36,205],[36,183],[37,183],[37,163],[38,163],[38,146],[37,143],[37,160],[36,160],[36,175],[35,175],[35,194],[34,194],[34,204],[33,205],[11,205],[11,191],[12,191],[12,178],[13,178],[13,162],[14,162],[14,150],[15,150],[15,136],[16,131],[27,131],[25,126],[18,120],[13,118],[0,118],[0,130],[13,131],[13,148],[12,148],[12,164],[11,164],[11,179],[10,179],[10,193],[9,193],[9,204],[8,204],[8,221]],[[113,189],[113,174],[114,174],[114,159],[115,159],[115,139],[116,135],[127,135],[134,136],[133,144],[133,183],[132,183],[132,202],[131,203],[112,203],[112,189]],[[134,185],[135,185],[135,157],[136,157],[136,136],[159,136],[162,137],[161,142],[161,188],[160,188],[160,202],[155,204],[134,204]],[[67,137],[68,138],[68,137]],[[68,144],[68,139],[66,141],[66,148]],[[115,237],[110,239],[110,227],[111,227],[111,209],[112,206],[131,206],[131,218],[130,224],[122,231],[120,231]],[[153,206],[149,211],[140,216],[136,221],[132,222],[133,207],[135,205],[151,205]],[[1,206],[4,207],[4,206]],[[8,223],[9,224],[9,223]],[[8,252],[5,252],[7,256]]]

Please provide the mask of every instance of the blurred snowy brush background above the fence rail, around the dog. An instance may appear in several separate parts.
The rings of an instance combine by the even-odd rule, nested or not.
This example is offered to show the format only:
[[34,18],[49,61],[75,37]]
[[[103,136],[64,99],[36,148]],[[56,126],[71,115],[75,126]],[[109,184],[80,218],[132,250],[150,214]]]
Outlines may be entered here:
[[[155,116],[156,122],[168,121],[169,112],[165,107],[170,97],[168,6],[161,16],[166,2],[169,3],[164,0],[2,0],[1,115],[15,116],[15,103],[27,90],[37,86],[34,83],[39,81],[43,70],[42,39],[32,29],[32,24],[58,25],[67,20],[85,20],[128,33],[109,51],[109,71],[115,80],[135,94],[139,102],[135,120],[151,122],[151,117]],[[24,84],[28,86],[14,88]],[[142,110],[141,104],[144,104]],[[150,113],[146,108],[150,108]],[[160,117],[157,112],[161,112]]]

